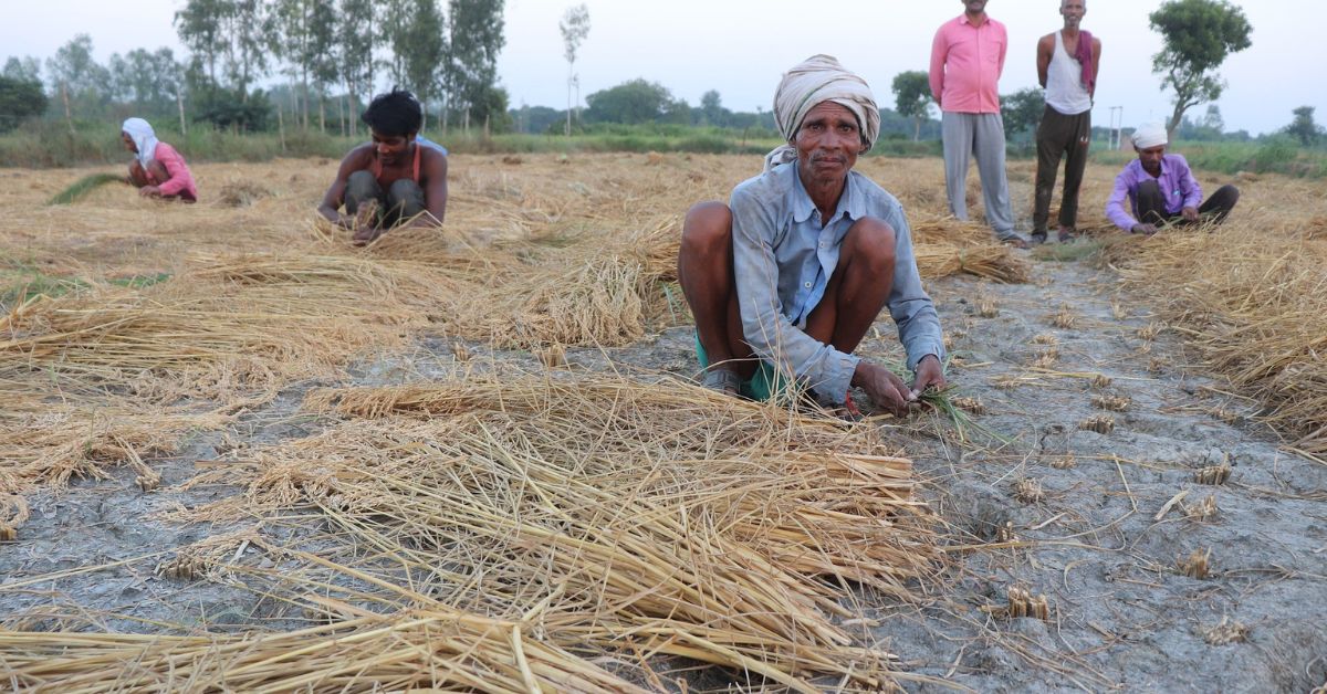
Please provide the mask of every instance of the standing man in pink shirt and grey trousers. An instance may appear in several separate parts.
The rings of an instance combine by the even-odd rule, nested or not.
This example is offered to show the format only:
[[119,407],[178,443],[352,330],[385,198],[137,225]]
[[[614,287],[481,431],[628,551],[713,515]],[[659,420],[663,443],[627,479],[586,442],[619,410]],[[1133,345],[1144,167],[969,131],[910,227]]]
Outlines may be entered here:
[[949,211],[967,219],[967,158],[977,155],[986,199],[986,222],[999,240],[1027,248],[1014,231],[1005,178],[1005,119],[999,113],[999,76],[1009,35],[986,16],[986,0],[962,0],[965,12],[936,32],[930,50],[930,92],[940,104],[945,141]]

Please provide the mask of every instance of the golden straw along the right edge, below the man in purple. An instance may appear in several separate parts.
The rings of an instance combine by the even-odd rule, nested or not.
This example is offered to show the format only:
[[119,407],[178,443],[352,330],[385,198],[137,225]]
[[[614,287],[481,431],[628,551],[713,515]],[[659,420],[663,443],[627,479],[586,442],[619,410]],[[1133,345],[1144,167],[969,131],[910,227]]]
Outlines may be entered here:
[[1292,447],[1323,455],[1327,240],[1312,228],[1282,210],[1255,208],[1221,227],[1131,239],[1111,255],[1206,370],[1262,401]]

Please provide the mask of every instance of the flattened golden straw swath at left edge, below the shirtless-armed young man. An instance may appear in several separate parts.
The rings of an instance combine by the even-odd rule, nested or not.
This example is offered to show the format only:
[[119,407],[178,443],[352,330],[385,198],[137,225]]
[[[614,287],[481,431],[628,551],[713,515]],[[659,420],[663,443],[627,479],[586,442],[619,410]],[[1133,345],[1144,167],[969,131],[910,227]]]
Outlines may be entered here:
[[0,378],[41,373],[158,401],[252,402],[333,376],[464,293],[407,261],[336,256],[195,257],[171,281],[28,303],[0,320]]

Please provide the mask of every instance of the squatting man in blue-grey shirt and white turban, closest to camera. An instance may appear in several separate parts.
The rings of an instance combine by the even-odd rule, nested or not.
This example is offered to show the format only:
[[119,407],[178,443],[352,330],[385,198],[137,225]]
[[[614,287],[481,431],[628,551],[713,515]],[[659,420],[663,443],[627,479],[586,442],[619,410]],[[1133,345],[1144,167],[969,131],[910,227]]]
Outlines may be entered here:
[[[774,97],[788,145],[729,204],[682,227],[678,276],[706,387],[755,399],[798,382],[855,413],[849,391],[906,414],[945,387],[945,346],[898,200],[852,170],[880,134],[871,88],[829,56],[788,70]],[[880,311],[898,325],[912,383],[853,354]]]

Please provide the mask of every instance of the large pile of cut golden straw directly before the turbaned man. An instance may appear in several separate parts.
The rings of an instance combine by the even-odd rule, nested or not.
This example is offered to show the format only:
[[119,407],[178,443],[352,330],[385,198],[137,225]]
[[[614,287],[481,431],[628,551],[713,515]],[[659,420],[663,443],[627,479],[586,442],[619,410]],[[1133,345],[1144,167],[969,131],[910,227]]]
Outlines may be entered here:
[[[852,614],[843,581],[908,598],[937,569],[910,464],[873,430],[618,377],[326,390],[308,406],[356,419],[211,479],[247,484],[231,514],[312,504],[340,528],[342,548],[301,555],[285,592],[299,575],[376,610],[537,608],[549,644],[811,691],[807,675],[888,677],[886,654],[833,624]],[[377,589],[337,596],[345,577]]]

